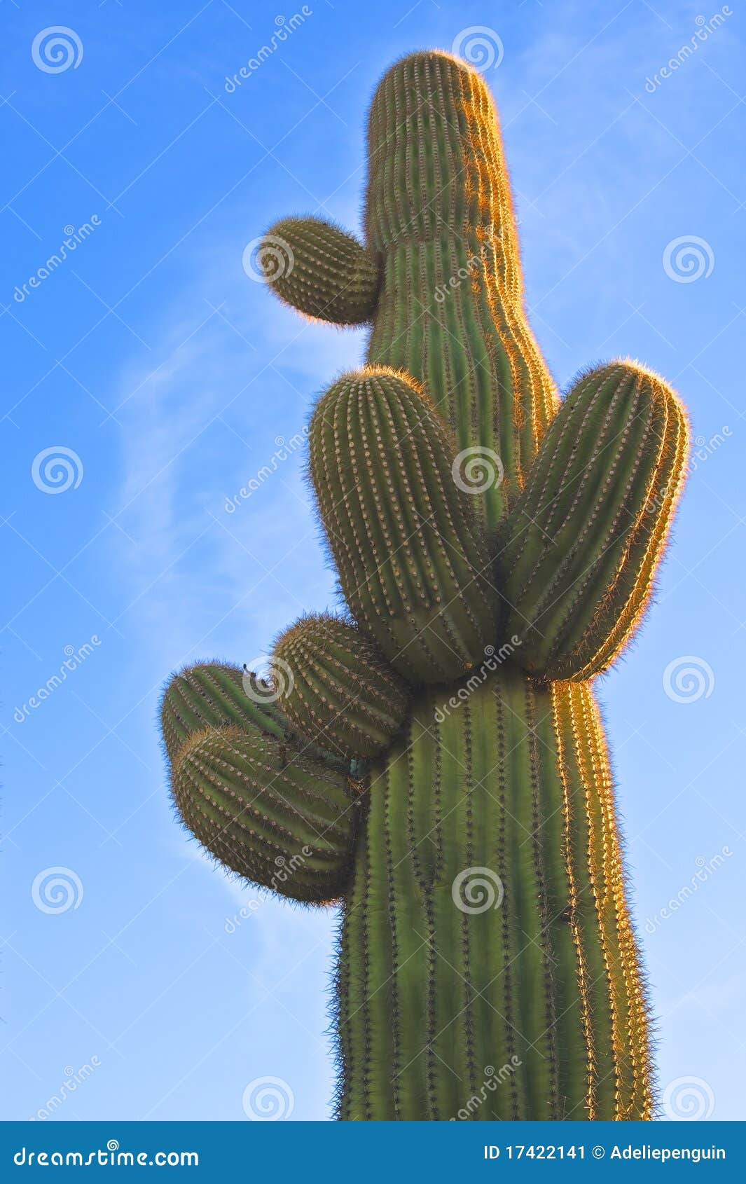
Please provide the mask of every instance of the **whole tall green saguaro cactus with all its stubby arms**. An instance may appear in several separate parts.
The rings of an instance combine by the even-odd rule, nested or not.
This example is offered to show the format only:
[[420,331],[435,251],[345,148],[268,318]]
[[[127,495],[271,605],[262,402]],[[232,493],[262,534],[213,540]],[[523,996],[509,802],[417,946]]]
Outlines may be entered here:
[[490,95],[449,54],[375,92],[365,245],[313,218],[269,242],[284,301],[372,326],[310,426],[351,618],[292,625],[269,683],[174,677],[176,806],[247,880],[341,901],[340,1118],[648,1119],[592,686],[650,593],[679,400],[617,361],[559,403]]

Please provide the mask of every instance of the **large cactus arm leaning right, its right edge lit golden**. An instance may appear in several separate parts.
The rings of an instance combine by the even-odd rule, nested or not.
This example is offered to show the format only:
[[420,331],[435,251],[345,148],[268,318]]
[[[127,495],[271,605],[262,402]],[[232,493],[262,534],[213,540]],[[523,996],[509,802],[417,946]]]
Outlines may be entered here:
[[567,395],[502,528],[496,584],[532,674],[604,670],[642,618],[687,458],[679,399],[615,362]]

